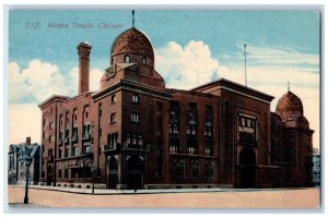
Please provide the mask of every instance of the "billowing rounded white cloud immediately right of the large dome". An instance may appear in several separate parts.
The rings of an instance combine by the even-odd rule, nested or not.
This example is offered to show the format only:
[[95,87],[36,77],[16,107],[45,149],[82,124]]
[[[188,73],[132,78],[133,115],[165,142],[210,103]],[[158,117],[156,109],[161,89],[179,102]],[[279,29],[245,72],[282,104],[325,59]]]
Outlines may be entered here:
[[208,83],[216,77],[218,69],[218,60],[203,41],[191,40],[185,47],[169,41],[156,49],[156,70],[168,87],[188,89]]

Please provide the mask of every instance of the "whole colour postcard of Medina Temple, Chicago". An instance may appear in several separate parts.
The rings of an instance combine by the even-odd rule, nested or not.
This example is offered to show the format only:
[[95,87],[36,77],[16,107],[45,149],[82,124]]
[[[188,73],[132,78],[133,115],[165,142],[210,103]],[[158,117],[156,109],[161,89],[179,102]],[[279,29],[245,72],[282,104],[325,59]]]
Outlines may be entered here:
[[320,208],[320,10],[8,12],[10,207]]

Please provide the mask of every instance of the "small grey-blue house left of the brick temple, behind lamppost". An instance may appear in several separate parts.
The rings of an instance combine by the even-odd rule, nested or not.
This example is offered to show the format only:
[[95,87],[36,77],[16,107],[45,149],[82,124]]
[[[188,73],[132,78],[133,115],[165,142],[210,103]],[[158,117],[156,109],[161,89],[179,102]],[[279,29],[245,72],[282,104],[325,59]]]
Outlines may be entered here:
[[38,184],[40,178],[40,145],[31,144],[31,137],[25,143],[12,144],[8,153],[8,184],[25,184],[26,182],[26,156],[32,158],[28,167],[30,184]]

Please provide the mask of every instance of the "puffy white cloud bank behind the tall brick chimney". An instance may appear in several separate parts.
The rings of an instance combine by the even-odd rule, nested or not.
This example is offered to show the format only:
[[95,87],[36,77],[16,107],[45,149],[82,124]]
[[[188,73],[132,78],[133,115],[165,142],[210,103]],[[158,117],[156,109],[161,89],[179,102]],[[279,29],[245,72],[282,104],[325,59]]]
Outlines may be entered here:
[[[103,72],[90,71],[90,90],[99,88]],[[21,71],[16,62],[9,63],[9,100],[10,102],[39,104],[49,96],[78,94],[79,69],[74,68],[63,75],[56,64],[32,60],[28,66]]]

